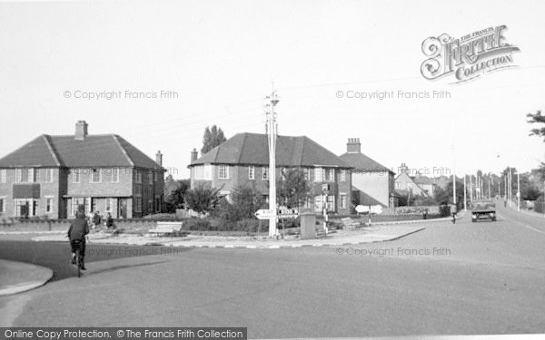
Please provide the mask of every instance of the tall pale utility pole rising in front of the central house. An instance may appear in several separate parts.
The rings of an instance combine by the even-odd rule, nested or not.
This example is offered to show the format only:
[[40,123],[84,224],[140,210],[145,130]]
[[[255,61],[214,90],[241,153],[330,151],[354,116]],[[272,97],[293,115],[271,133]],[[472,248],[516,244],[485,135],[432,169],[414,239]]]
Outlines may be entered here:
[[267,137],[269,140],[269,209],[272,216],[269,219],[269,236],[276,236],[276,112],[274,107],[279,100],[274,89],[270,96],[265,97],[265,114],[267,116]]

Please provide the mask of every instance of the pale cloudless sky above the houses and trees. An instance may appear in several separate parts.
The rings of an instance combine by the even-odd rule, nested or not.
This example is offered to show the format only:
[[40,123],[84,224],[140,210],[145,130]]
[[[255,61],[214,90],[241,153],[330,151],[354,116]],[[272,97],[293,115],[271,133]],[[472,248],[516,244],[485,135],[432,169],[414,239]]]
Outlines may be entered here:
[[[274,88],[279,133],[338,155],[359,138],[394,171],[530,170],[545,160],[526,117],[544,109],[543,13],[543,1],[0,2],[0,157],[84,120],[188,178],[206,126],[264,132]],[[421,75],[426,38],[501,24],[516,67]],[[418,98],[434,91],[450,96]],[[364,92],[395,95],[353,98]]]

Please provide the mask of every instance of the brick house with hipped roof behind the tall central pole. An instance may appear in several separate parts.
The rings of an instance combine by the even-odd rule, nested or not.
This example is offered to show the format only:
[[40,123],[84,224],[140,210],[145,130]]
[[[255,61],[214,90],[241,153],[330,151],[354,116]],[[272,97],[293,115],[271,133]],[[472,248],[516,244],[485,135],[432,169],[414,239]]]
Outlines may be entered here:
[[[210,185],[220,188],[220,194],[229,195],[239,185],[251,185],[263,194],[269,194],[269,150],[267,135],[238,133],[213,150],[197,158],[191,157],[191,187]],[[348,214],[352,201],[352,167],[306,136],[278,136],[276,142],[276,174],[284,168],[301,168],[311,183],[312,199],[304,209],[320,211],[324,205],[333,213]],[[328,192],[324,195],[323,185]]]

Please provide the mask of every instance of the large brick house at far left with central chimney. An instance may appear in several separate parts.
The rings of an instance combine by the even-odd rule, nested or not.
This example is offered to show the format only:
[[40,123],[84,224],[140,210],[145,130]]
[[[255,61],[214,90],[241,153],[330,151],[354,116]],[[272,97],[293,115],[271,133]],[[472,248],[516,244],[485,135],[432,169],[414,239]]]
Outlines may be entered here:
[[130,219],[163,207],[163,155],[150,159],[116,134],[41,135],[0,159],[0,217],[70,219],[110,211]]

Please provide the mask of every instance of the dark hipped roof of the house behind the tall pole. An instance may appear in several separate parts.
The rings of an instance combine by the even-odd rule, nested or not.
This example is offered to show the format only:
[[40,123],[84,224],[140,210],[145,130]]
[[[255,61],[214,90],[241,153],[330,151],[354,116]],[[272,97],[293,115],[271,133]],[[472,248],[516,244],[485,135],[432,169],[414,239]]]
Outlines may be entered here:
[[[221,145],[193,160],[190,167],[199,164],[269,164],[267,135],[237,133]],[[285,167],[327,166],[351,169],[332,151],[306,136],[278,136],[276,140],[276,165]]]

